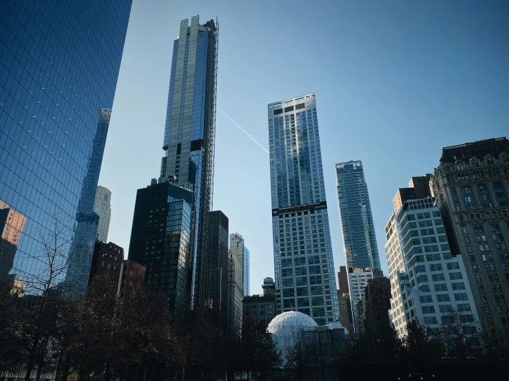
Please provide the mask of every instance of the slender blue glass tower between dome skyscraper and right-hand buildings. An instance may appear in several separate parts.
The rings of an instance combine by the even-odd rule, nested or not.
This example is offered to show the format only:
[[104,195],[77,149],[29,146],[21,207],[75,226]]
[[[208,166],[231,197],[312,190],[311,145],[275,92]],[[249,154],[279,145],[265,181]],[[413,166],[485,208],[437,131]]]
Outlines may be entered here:
[[381,270],[362,162],[339,163],[335,168],[346,267]]

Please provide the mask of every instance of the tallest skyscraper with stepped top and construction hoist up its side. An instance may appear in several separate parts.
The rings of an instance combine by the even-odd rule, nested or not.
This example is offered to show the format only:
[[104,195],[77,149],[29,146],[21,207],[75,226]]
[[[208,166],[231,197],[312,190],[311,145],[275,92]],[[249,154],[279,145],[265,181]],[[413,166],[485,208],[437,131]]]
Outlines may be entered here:
[[[218,25],[180,21],[174,41],[161,177],[193,193],[189,246],[191,304],[207,303],[209,212],[212,209]],[[198,301],[195,299],[198,298]]]

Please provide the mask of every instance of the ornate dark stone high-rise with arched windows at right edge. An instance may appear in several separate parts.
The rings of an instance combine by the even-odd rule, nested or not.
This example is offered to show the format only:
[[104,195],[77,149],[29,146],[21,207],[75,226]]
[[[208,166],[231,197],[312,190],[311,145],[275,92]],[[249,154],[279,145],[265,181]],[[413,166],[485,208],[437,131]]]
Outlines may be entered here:
[[509,141],[442,149],[432,184],[451,250],[463,257],[481,323],[509,337]]

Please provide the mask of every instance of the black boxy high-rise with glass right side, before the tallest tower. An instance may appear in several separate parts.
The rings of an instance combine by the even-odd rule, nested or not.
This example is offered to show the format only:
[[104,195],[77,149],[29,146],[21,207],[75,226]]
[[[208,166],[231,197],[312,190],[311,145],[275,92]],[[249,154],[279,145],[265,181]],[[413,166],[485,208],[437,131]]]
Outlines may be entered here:
[[136,193],[129,260],[146,268],[145,283],[158,283],[173,313],[189,300],[193,193],[164,177],[151,183]]

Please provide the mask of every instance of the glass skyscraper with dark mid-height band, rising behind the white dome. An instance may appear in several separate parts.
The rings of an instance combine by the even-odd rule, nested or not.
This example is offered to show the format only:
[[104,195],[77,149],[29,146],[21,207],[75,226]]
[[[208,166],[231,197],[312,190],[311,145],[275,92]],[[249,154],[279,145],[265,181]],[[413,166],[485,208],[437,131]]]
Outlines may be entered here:
[[339,320],[315,94],[269,104],[276,314]]

